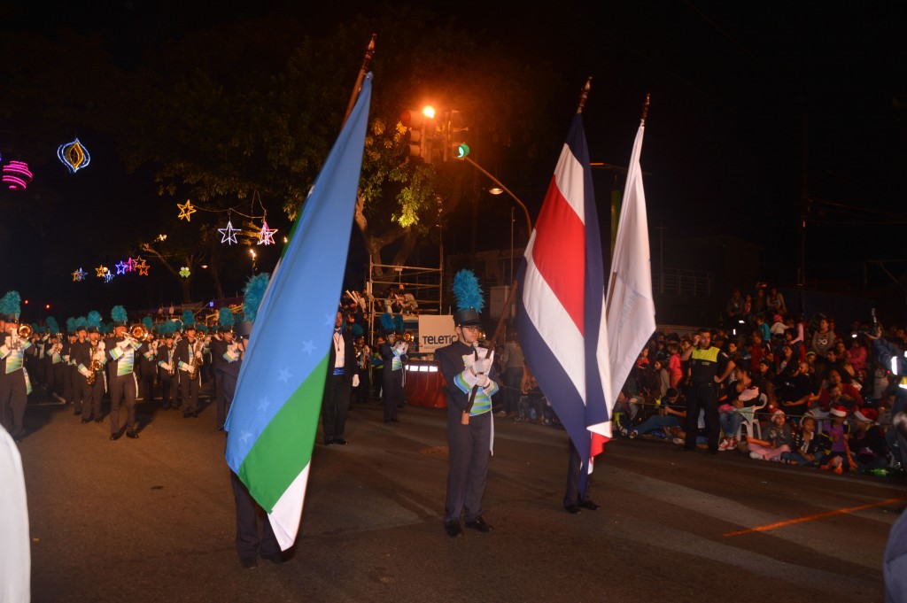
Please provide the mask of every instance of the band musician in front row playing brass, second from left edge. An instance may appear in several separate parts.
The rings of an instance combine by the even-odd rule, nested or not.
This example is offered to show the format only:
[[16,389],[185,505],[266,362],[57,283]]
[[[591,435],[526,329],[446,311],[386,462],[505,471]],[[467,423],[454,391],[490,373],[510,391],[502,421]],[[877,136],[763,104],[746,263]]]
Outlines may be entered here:
[[139,389],[135,378],[136,353],[141,342],[126,336],[128,316],[123,306],[113,306],[113,335],[104,340],[104,352],[107,355],[108,383],[111,394],[111,440],[122,436],[120,427],[120,404],[126,403],[126,436],[133,440],[139,437],[135,423],[135,394]]

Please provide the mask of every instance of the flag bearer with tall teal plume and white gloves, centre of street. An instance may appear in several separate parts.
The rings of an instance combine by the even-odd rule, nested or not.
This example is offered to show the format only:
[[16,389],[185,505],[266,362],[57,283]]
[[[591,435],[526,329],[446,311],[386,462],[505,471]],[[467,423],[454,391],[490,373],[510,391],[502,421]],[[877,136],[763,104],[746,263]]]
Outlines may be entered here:
[[463,536],[465,526],[489,533],[483,520],[482,498],[493,450],[492,396],[498,391],[494,355],[478,345],[483,298],[478,282],[467,270],[453,280],[459,309],[453,315],[456,341],[435,350],[447,383],[447,445],[450,469],[444,502],[444,531],[451,538]]

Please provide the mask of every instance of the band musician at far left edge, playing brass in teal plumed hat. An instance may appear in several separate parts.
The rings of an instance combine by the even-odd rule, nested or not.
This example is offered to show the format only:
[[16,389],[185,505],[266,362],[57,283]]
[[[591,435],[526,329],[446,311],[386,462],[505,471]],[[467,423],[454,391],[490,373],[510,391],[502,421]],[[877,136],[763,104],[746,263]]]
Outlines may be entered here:
[[0,425],[13,439],[25,433],[25,405],[31,389],[24,358],[32,342],[19,336],[20,297],[10,291],[0,299]]

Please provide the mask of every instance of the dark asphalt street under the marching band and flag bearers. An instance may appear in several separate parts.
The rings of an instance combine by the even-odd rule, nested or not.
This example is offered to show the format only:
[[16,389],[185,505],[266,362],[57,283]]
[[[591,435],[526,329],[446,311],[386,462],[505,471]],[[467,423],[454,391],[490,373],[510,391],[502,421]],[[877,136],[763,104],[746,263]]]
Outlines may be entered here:
[[592,476],[601,509],[571,515],[566,434],[496,419],[483,515],[497,530],[454,540],[445,411],[383,423],[373,403],[351,410],[348,445],[316,445],[288,562],[241,569],[214,408],[142,403],[139,418],[138,440],[111,442],[107,423],[33,395],[19,446],[35,602],[881,602],[907,506],[902,479],[616,440]]

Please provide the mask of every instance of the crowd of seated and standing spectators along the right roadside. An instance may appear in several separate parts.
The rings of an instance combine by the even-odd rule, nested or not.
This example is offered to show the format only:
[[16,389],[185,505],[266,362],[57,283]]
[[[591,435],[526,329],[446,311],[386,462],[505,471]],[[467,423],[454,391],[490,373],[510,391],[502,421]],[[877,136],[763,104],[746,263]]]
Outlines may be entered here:
[[[719,349],[716,384],[721,452],[754,460],[844,472],[904,473],[892,423],[904,419],[907,390],[892,372],[905,331],[870,320],[842,328],[833,316],[787,311],[775,287],[735,290],[711,331]],[[867,319],[869,317],[867,316]],[[698,338],[696,338],[698,340]],[[639,355],[615,406],[618,433],[684,443],[693,337],[656,332]],[[900,414],[899,414],[900,413]],[[698,413],[697,413],[698,414]],[[706,447],[700,414],[697,446]]]

